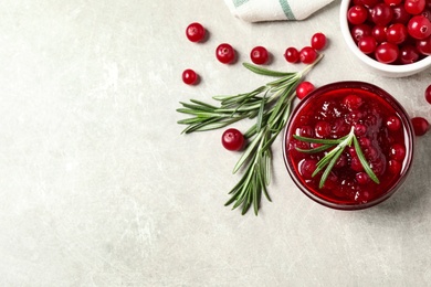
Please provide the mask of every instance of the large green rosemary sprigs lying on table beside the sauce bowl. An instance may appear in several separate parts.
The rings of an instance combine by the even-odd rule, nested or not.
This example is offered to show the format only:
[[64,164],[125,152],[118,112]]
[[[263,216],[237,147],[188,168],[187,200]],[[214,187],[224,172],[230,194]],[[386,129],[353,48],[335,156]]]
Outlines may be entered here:
[[250,93],[214,96],[213,99],[220,103],[218,106],[196,99],[180,103],[182,108],[177,111],[192,116],[178,121],[187,125],[182,131],[185,134],[222,128],[245,118],[256,118],[256,123],[244,134],[249,145],[233,169],[233,173],[242,169],[244,174],[229,192],[231,198],[225,205],[233,203],[233,209],[241,206],[242,214],[253,205],[257,215],[262,193],[271,201],[266,189],[271,181],[271,145],[287,121],[296,86],[322,57],[319,55],[313,64],[294,73],[275,72],[244,63],[244,67],[253,73],[277,78]]

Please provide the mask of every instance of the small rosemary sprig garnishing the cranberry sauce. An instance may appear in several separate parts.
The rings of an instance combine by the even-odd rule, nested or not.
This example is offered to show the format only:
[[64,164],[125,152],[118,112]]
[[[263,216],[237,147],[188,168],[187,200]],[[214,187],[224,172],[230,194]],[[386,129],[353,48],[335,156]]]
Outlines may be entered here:
[[[299,149],[296,148],[296,150],[301,152],[306,153],[316,153],[324,150],[327,150],[329,148],[333,148],[328,153],[326,153],[318,162],[316,170],[313,172],[312,177],[315,177],[318,172],[320,172],[323,169],[325,171],[322,174],[320,182],[318,184],[318,188],[322,189],[325,184],[326,179],[328,178],[330,171],[333,170],[335,163],[337,162],[338,158],[341,156],[344,149],[346,147],[350,147],[351,144],[354,145],[356,155],[359,158],[360,163],[364,167],[365,172],[367,172],[368,177],[376,183],[380,183],[379,179],[376,177],[371,168],[369,167],[367,159],[364,156],[362,150],[360,149],[358,139],[355,136],[355,128],[351,127],[350,132],[347,136],[344,136],[339,139],[316,139],[316,138],[306,138],[301,136],[293,136],[294,138],[305,141],[305,142],[313,142],[313,144],[320,144],[320,147],[314,148],[314,149]],[[325,168],[326,167],[326,168]]]

